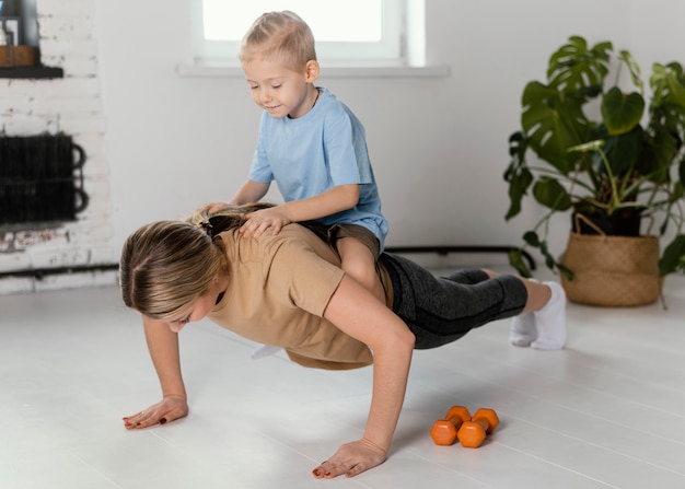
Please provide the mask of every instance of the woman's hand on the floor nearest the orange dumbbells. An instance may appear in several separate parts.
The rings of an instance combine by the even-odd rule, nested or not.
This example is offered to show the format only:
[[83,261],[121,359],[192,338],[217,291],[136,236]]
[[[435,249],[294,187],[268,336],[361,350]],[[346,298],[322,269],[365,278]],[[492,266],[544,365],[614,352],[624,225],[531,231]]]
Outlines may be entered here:
[[355,477],[364,470],[381,465],[385,461],[385,451],[373,442],[362,438],[346,443],[338,451],[312,470],[316,479],[330,479],[340,475]]

